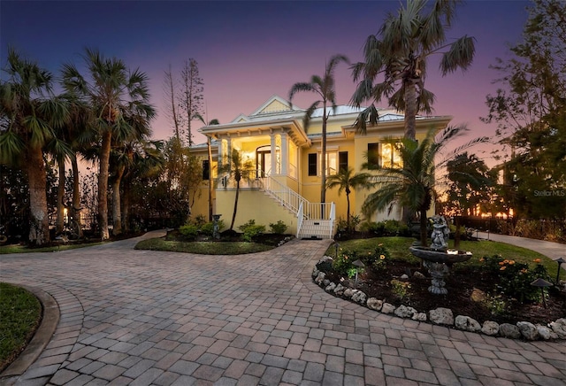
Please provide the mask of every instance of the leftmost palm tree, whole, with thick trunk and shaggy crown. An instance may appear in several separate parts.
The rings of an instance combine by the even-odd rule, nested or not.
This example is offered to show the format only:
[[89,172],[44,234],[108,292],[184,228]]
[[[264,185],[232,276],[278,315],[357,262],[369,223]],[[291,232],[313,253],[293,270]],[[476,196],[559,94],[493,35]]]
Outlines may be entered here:
[[[50,242],[44,150],[67,117],[65,102],[52,92],[52,74],[10,49],[0,83],[0,162],[21,167],[29,182],[29,242]],[[59,143],[61,147],[64,143]]]

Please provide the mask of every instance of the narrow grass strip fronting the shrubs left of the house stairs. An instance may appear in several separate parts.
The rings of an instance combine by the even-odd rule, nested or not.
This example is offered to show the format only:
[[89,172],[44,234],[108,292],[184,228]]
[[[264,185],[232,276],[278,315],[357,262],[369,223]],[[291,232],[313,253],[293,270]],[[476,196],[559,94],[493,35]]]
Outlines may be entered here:
[[142,240],[135,245],[136,250],[172,251],[196,253],[199,255],[242,255],[269,251],[272,245],[245,242],[179,242],[168,241],[163,238]]

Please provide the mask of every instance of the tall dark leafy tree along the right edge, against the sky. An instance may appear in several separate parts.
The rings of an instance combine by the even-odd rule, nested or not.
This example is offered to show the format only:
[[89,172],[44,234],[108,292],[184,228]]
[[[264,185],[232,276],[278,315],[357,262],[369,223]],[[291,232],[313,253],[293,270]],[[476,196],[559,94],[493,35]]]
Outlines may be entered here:
[[[500,196],[516,216],[566,217],[566,3],[533,0],[523,40],[497,59],[501,88],[486,97],[503,151]],[[508,151],[510,149],[511,151]],[[510,154],[510,158],[501,158]]]

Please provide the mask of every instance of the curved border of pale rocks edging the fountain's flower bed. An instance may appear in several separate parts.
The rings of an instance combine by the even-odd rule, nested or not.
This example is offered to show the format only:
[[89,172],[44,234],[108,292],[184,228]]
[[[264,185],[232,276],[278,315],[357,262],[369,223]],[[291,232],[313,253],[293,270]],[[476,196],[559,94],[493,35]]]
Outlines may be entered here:
[[[330,256],[323,256],[318,263],[332,261]],[[318,264],[317,263],[317,264]],[[566,318],[560,318],[543,326],[541,324],[532,324],[529,321],[517,321],[516,324],[502,323],[499,324],[492,320],[486,320],[481,325],[478,320],[470,318],[470,316],[457,315],[454,317],[452,310],[448,308],[436,308],[428,313],[419,313],[415,308],[407,305],[395,307],[384,302],[377,297],[368,298],[363,291],[344,287],[341,283],[331,282],[326,279],[326,274],[317,269],[317,265],[312,270],[313,281],[325,292],[335,297],[341,297],[350,300],[356,304],[368,307],[379,313],[389,313],[399,318],[410,318],[412,320],[430,322],[456,328],[462,331],[485,334],[486,336],[502,336],[510,339],[523,338],[528,341],[534,340],[556,340],[566,339]]]

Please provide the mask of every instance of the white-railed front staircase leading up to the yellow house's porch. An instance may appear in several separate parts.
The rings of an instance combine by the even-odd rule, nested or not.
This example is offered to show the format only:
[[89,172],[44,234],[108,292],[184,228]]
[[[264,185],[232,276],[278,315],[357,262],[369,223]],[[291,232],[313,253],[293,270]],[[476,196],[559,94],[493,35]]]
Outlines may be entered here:
[[297,216],[297,238],[331,239],[334,234],[334,203],[310,203],[271,176],[260,179],[264,192]]

